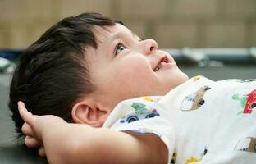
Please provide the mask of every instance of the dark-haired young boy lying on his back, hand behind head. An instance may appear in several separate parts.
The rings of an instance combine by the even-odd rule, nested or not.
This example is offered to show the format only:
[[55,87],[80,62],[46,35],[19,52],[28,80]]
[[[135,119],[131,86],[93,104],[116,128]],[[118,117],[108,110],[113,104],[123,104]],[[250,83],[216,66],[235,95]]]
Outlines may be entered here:
[[[254,80],[188,80],[155,41],[88,13],[25,51],[10,108],[18,131],[25,121],[25,144],[51,163],[253,163],[255,89]],[[20,100],[30,110],[19,103],[21,117]]]

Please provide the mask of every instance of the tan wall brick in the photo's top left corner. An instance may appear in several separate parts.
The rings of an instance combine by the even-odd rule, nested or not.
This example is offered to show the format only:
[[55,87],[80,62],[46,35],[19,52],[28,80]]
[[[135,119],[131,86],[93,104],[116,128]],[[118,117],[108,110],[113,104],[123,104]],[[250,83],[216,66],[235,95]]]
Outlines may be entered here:
[[1,0],[1,21],[47,20],[53,15],[53,1]]

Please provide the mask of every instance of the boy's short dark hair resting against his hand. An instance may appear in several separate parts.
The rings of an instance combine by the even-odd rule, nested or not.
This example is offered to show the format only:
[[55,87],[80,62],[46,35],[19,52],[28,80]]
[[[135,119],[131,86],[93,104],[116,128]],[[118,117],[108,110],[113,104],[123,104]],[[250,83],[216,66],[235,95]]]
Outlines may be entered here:
[[[94,91],[86,66],[86,47],[97,48],[94,26],[115,21],[98,13],[84,13],[59,21],[21,54],[12,76],[9,108],[18,138],[24,121],[17,109],[23,101],[36,115],[56,115],[72,122],[75,101]],[[121,23],[122,24],[122,23]]]

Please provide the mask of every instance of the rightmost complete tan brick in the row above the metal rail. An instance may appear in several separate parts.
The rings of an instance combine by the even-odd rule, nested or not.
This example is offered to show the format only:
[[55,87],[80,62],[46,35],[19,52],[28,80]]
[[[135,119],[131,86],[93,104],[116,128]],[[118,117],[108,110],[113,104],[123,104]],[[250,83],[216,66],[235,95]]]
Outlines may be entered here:
[[245,47],[245,25],[241,22],[208,22],[203,34],[204,47]]

